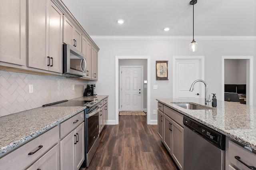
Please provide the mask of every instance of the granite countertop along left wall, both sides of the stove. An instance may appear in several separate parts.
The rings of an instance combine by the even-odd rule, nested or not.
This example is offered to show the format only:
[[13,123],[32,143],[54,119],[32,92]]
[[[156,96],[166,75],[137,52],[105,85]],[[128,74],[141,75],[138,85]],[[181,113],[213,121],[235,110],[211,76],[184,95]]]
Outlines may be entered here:
[[[72,100],[105,99],[108,95],[78,97]],[[43,132],[86,109],[79,107],[38,107],[0,117],[0,157]]]

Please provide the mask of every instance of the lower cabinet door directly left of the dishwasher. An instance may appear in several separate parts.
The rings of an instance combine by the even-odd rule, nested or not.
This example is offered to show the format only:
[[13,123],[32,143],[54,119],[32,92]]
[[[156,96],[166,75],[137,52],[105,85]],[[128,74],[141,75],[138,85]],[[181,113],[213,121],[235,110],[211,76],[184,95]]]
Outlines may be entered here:
[[183,170],[184,128],[172,121],[172,158],[180,170]]

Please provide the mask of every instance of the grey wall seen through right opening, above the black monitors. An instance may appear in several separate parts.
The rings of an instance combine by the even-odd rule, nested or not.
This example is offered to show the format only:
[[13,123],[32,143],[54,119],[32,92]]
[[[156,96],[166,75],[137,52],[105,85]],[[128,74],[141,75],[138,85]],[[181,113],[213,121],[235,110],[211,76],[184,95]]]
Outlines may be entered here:
[[246,59],[225,59],[225,84],[246,84]]

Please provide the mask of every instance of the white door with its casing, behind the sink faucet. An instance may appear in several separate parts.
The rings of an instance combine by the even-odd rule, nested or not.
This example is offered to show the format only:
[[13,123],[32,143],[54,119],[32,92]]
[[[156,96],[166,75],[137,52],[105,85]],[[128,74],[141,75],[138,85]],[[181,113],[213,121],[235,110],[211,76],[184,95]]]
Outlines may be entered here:
[[204,80],[204,56],[173,57],[173,98],[204,98],[204,84],[196,83],[194,90],[189,91],[191,84]]

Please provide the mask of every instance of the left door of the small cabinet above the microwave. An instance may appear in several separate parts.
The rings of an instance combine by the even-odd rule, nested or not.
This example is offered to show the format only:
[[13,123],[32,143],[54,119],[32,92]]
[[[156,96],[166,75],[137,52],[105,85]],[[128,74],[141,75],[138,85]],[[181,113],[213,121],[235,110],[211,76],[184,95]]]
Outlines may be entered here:
[[63,16],[63,42],[70,45],[75,45],[73,40],[74,25]]

